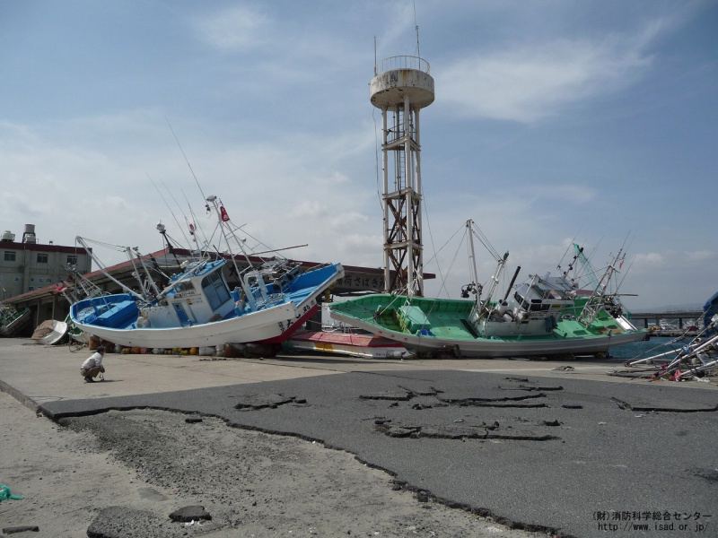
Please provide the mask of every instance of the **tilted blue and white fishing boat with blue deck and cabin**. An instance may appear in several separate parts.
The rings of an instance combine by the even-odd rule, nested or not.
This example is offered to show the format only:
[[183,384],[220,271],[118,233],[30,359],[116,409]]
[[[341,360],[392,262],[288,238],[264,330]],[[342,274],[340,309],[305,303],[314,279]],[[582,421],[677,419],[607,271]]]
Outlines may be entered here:
[[[207,202],[214,204],[219,227],[227,239],[238,229],[232,228],[215,196],[208,197]],[[78,241],[83,243],[83,238]],[[243,251],[242,242],[238,244]],[[87,250],[93,256],[92,250]],[[130,347],[282,343],[314,314],[320,295],[344,276],[340,264],[301,273],[299,265],[285,259],[240,270],[236,258],[231,250],[226,257],[205,252],[185,261],[180,273],[172,275],[163,289],[150,282],[143,287],[143,293],[106,273],[126,292],[75,302],[70,318],[87,334]],[[142,258],[138,256],[137,261],[149,278]],[[232,290],[222,271],[230,262],[239,276],[239,285]]]

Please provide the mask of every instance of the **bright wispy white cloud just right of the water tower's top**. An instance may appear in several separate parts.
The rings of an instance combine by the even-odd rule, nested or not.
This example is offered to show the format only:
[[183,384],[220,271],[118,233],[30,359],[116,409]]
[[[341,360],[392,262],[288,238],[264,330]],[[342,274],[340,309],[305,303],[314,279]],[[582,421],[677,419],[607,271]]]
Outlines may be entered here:
[[659,20],[637,35],[479,50],[439,68],[437,88],[457,114],[536,122],[568,104],[634,83],[652,64],[647,48],[666,26]]

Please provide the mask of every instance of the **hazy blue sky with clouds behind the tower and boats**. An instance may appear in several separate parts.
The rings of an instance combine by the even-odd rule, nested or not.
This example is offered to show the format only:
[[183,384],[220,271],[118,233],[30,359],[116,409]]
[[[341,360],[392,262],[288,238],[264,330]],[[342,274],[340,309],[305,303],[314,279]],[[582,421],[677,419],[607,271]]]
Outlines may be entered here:
[[188,204],[214,226],[189,162],[252,237],[379,267],[374,39],[416,55],[415,23],[427,295],[470,280],[468,219],[510,252],[503,282],[575,240],[597,267],[625,247],[628,308],[718,290],[716,1],[0,0],[0,230],[183,242]]

